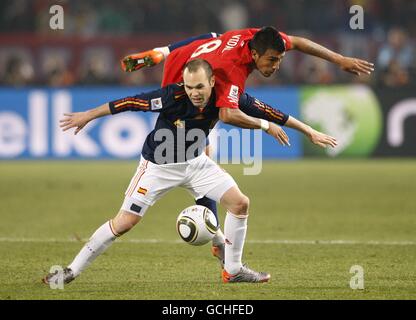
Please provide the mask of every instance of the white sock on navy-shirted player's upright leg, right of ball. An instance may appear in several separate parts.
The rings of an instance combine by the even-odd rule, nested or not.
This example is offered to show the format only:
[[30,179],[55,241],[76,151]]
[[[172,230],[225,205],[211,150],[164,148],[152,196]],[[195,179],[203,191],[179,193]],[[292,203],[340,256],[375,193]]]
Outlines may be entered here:
[[224,268],[229,274],[236,274],[242,267],[241,257],[243,256],[244,241],[247,231],[247,216],[237,218],[227,211],[224,223],[225,233],[225,265]]

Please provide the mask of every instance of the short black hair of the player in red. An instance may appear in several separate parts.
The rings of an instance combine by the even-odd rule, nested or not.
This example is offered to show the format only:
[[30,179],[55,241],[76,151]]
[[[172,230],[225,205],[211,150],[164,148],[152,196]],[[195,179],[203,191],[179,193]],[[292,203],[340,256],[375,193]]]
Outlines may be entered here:
[[274,27],[263,27],[254,34],[253,39],[249,42],[249,48],[254,49],[259,55],[266,53],[268,49],[276,50],[277,52],[285,52],[285,42],[279,31]]

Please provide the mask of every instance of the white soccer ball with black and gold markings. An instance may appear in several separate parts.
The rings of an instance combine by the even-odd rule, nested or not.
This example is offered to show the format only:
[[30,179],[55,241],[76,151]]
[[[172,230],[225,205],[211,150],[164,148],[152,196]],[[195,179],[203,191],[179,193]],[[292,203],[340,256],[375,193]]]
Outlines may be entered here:
[[202,246],[211,241],[218,228],[218,220],[212,211],[199,205],[184,209],[176,220],[179,236],[193,246]]

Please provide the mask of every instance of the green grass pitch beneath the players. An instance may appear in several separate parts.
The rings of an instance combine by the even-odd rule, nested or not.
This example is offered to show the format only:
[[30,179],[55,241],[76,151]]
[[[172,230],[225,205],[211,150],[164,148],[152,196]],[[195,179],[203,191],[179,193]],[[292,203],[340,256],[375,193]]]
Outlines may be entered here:
[[[41,277],[115,215],[136,163],[3,161],[0,299],[416,298],[415,160],[264,162],[257,176],[225,168],[251,200],[244,261],[270,283],[224,285],[209,246],[179,241],[176,216],[193,199],[177,189],[52,290]],[[353,265],[363,290],[350,288]]]

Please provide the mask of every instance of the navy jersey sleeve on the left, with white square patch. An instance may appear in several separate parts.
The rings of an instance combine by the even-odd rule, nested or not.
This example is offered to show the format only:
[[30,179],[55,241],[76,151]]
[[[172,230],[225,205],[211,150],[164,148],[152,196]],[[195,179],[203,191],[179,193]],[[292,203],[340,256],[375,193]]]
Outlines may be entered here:
[[169,85],[154,91],[144,92],[135,96],[109,102],[112,114],[124,111],[162,112],[186,95],[183,86]]

